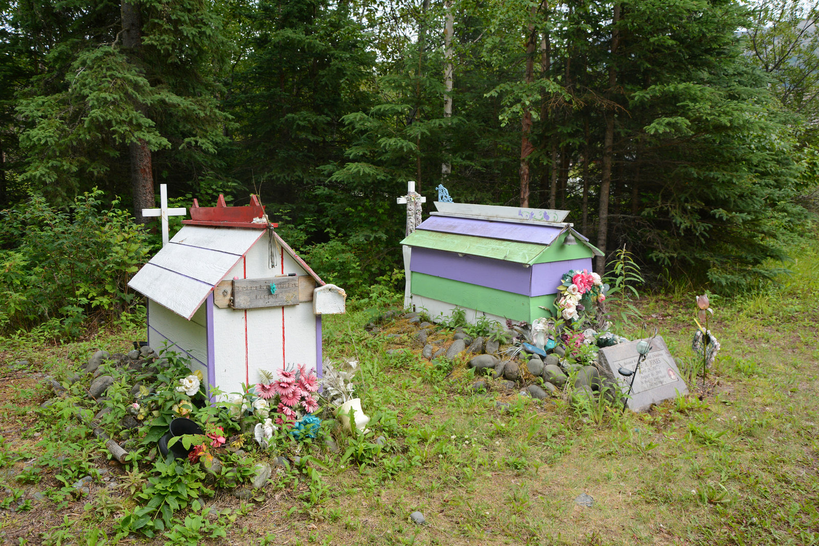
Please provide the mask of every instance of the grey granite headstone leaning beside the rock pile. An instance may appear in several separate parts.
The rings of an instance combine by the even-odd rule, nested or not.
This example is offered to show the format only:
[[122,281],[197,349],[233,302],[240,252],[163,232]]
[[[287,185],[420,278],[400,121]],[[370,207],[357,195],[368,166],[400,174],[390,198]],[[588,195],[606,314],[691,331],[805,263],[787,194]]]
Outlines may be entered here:
[[[598,354],[600,373],[609,379],[618,381],[623,395],[628,392],[631,377],[623,377],[618,370],[627,368],[633,370],[637,365],[637,341],[618,343],[611,347],[602,347]],[[646,340],[648,341],[648,340]],[[631,399],[627,406],[635,412],[646,411],[651,404],[659,404],[663,400],[674,399],[676,394],[688,393],[686,381],[682,380],[676,362],[668,352],[668,347],[661,336],[651,341],[651,350],[645,360],[640,363],[640,370],[634,378],[634,387],[631,389]]]

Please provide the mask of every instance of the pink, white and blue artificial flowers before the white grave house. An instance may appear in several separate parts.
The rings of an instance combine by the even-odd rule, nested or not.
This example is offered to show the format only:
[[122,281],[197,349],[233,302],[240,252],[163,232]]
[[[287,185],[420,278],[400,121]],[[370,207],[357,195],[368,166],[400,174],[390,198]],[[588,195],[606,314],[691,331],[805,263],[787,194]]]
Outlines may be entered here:
[[[267,448],[278,427],[296,440],[315,438],[321,425],[321,419],[312,414],[319,408],[315,372],[299,364],[295,370],[281,369],[275,375],[260,370],[259,375],[261,381],[253,388],[257,398],[250,404],[258,421],[253,429],[256,442]],[[270,417],[270,413],[276,417]]]

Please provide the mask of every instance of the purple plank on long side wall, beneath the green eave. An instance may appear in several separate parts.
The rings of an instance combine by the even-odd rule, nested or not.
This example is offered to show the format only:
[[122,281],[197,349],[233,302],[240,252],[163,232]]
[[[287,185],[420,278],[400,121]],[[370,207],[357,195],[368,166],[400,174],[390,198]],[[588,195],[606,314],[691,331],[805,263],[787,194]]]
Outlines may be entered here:
[[531,267],[525,268],[523,264],[503,259],[459,256],[456,252],[445,250],[415,247],[409,260],[409,270],[524,296],[529,295],[532,286]]

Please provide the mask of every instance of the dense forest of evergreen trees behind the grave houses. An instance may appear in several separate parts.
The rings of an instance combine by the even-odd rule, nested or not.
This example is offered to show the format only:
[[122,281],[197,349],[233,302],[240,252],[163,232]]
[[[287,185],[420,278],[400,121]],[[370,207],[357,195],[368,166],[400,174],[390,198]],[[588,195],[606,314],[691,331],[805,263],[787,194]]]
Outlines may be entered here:
[[408,180],[428,203],[443,183],[455,201],[571,210],[654,286],[758,290],[786,243],[813,235],[816,2],[29,0],[0,13],[5,331],[75,333],[128,309],[127,279],[160,241],[139,212],[160,183],[181,206],[258,194],[285,240],[359,296],[400,285]]

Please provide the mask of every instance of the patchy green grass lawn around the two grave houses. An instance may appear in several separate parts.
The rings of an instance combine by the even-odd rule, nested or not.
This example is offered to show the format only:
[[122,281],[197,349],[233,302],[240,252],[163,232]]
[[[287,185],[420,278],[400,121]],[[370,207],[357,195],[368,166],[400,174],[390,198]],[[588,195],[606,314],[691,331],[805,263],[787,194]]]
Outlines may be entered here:
[[[372,433],[333,430],[337,452],[305,446],[309,466],[277,469],[247,502],[216,490],[202,497],[210,512],[180,510],[178,525],[153,538],[117,534],[151,463],[110,462],[66,404],[40,408],[53,397],[46,376],[61,381],[97,348],[128,350],[145,333],[59,345],[0,340],[0,542],[817,544],[819,243],[794,255],[781,287],[712,298],[722,351],[708,380],[648,413],[577,411],[565,397],[518,395],[523,383],[504,389],[490,380],[488,394],[473,394],[466,359],[423,359],[405,319],[373,335],[363,310],[327,318],[325,354],[359,360]],[[684,374],[695,361],[694,296],[633,302]],[[396,333],[406,335],[389,336]],[[16,364],[23,359],[29,364]],[[67,492],[66,482],[85,475],[93,476],[88,494]],[[574,502],[582,493],[594,499],[590,508]],[[410,521],[415,511],[426,523]],[[225,536],[209,538],[217,530]]]

